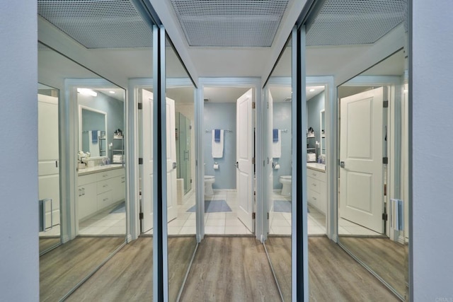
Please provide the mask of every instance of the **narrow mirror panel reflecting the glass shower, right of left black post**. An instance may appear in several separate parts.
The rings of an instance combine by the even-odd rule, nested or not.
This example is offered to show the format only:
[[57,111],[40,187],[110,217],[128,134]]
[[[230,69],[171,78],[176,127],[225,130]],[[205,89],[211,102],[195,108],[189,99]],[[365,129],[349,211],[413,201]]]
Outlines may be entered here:
[[197,240],[195,86],[166,36],[168,301],[179,301]]

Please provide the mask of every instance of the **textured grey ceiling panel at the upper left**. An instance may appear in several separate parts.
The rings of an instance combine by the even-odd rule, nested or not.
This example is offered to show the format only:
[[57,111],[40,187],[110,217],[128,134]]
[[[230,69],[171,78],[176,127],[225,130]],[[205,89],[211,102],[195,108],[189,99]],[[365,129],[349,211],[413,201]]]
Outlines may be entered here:
[[38,14],[86,48],[152,45],[151,28],[129,0],[38,0]]

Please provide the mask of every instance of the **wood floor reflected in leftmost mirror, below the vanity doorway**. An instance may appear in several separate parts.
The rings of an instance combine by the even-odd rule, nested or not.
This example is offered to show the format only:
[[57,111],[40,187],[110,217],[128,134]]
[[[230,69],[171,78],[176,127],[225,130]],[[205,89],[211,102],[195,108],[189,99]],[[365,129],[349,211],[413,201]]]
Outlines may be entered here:
[[125,241],[124,237],[81,237],[40,257],[40,301],[59,301]]

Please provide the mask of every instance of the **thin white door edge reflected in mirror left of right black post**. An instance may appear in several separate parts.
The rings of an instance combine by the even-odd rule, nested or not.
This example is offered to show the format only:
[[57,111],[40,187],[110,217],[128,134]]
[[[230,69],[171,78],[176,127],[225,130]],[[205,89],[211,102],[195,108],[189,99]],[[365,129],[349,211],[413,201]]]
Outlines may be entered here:
[[[274,187],[274,175],[273,175],[273,128],[274,128],[274,117],[273,117],[273,97],[269,91],[268,100],[268,213],[269,220],[272,221],[274,213],[274,198],[273,198],[273,187]],[[270,231],[270,224],[268,223],[268,233]]]

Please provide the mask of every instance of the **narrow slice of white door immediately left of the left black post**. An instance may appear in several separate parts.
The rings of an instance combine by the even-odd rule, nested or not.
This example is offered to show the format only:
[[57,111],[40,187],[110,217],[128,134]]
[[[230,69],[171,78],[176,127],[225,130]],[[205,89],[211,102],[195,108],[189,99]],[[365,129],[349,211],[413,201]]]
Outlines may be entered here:
[[153,228],[153,93],[142,90],[142,232]]

